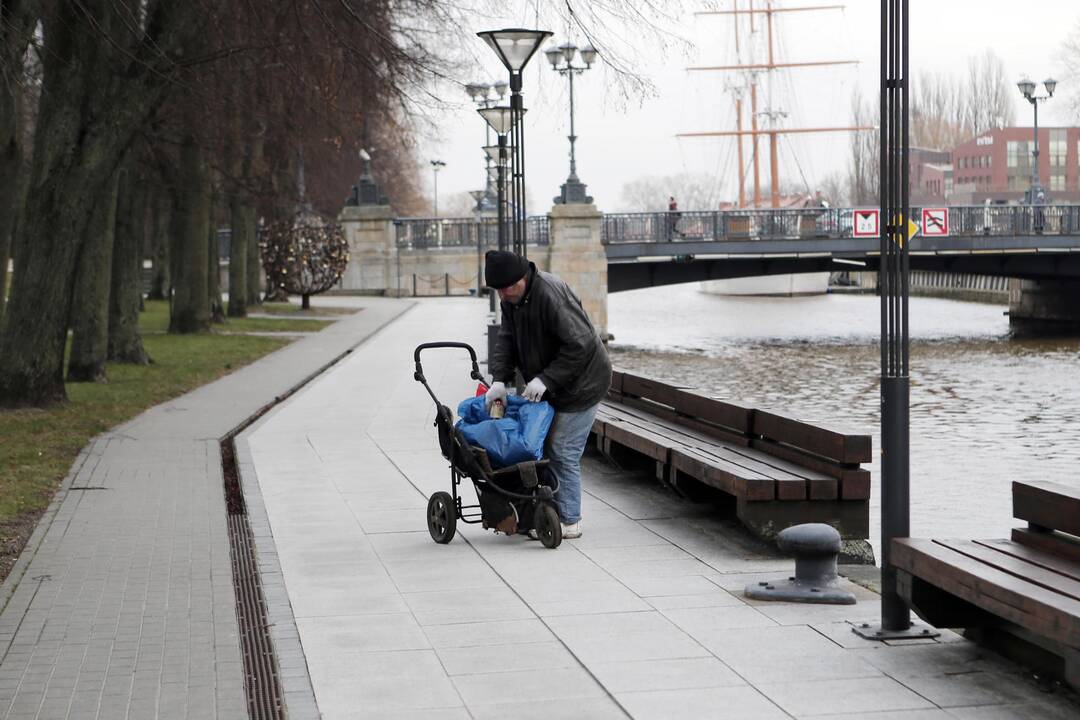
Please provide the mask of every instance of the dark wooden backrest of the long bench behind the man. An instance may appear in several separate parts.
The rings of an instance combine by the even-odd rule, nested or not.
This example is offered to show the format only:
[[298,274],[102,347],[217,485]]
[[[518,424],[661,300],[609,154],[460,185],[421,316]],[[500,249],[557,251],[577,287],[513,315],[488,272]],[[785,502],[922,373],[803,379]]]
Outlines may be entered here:
[[[746,408],[707,394],[630,372],[615,371],[610,398],[644,405],[672,419],[681,419],[698,430],[712,430],[723,439],[741,438],[745,444],[786,460],[807,460],[820,472],[826,466],[858,468],[869,462],[870,436],[841,433],[775,412]],[[815,462],[816,461],[816,462]],[[839,466],[839,467],[837,467]]]

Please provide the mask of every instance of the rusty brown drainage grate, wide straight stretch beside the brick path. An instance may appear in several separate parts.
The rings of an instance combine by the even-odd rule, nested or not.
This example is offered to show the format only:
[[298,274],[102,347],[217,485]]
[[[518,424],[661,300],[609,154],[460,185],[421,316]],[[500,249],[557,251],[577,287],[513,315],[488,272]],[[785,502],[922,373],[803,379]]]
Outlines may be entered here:
[[240,623],[240,647],[244,654],[247,715],[252,720],[284,720],[278,660],[270,638],[266,598],[259,582],[255,541],[240,488],[232,435],[221,440],[221,472],[225,475],[225,499],[229,511],[232,582],[237,589],[237,620]]

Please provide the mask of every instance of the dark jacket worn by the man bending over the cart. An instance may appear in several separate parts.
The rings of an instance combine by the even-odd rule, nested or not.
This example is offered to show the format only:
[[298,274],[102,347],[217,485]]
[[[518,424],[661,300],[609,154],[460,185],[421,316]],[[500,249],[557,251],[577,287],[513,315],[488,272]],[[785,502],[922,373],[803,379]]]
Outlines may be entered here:
[[556,410],[596,405],[611,384],[611,361],[596,328],[569,285],[531,262],[528,277],[521,302],[501,304],[491,376],[507,384],[515,369],[526,382],[539,376]]

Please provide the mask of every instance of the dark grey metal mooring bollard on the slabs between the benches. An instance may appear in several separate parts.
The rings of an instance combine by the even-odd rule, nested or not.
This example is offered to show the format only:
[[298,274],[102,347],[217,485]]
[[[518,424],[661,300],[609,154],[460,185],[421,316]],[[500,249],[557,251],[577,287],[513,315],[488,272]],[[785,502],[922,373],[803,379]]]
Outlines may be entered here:
[[782,530],[777,547],[795,556],[795,576],[752,583],[745,595],[754,600],[854,604],[855,596],[841,589],[836,574],[840,533],[824,522],[807,522]]

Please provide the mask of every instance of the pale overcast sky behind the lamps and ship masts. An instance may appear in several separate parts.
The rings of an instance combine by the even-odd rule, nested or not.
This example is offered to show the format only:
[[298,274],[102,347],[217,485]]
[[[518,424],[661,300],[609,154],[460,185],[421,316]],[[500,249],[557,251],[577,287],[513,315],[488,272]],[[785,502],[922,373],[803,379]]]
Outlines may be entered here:
[[[514,3],[507,3],[513,5]],[[731,0],[714,5],[731,6]],[[760,0],[759,3],[760,4]],[[816,0],[784,0],[775,6],[821,3]],[[740,5],[746,6],[746,0]],[[530,4],[515,14],[485,16],[476,30],[499,27],[531,27]],[[720,184],[719,195],[733,199],[737,192],[734,144],[730,138],[677,138],[678,133],[734,130],[734,113],[725,83],[730,77],[718,72],[690,72],[697,65],[729,64],[734,58],[731,19],[694,16],[688,12],[673,18],[676,32],[688,41],[678,47],[660,47],[659,42],[634,28],[623,28],[623,45],[638,47],[635,69],[656,89],[654,96],[625,99],[616,92],[613,72],[603,58],[592,70],[575,80],[575,123],[578,133],[578,173],[588,184],[602,210],[629,210],[621,192],[624,184],[646,176],[700,173]],[[787,117],[786,126],[833,126],[849,122],[852,93],[876,98],[878,92],[878,0],[850,0],[842,11],[778,15],[777,55],[779,60],[809,62],[854,59],[855,66],[794,69],[774,76],[771,106]],[[994,50],[1012,80],[1028,74],[1035,80],[1047,76],[1059,79],[1058,93],[1070,94],[1080,78],[1068,78],[1061,63],[1061,45],[1078,32],[1080,6],[1075,0],[910,0],[910,64],[913,74],[922,70],[962,73],[968,58]],[[554,40],[568,38],[561,28]],[[584,39],[570,37],[577,44]],[[477,58],[473,71],[460,80],[494,81],[505,71],[494,53],[478,38],[471,40]],[[531,204],[529,214],[550,209],[551,199],[565,180],[568,166],[569,109],[564,77],[556,74],[542,53],[530,62],[525,73],[526,173]],[[1041,90],[1041,89],[1040,89]],[[474,106],[453,89],[441,89],[447,100],[459,103],[435,116],[435,128],[420,138],[421,177],[430,195],[432,173],[428,161],[446,163],[438,176],[441,204],[451,195],[483,187],[484,124]],[[767,91],[762,90],[762,94]],[[769,100],[762,98],[762,106]],[[1040,108],[1040,123],[1078,124],[1067,111],[1067,101],[1054,98]],[[1020,93],[1015,96],[1016,124],[1030,126],[1031,108]],[[748,122],[748,121],[745,121]],[[761,140],[762,184],[768,181],[768,144]],[[788,136],[780,144],[781,178],[813,189],[829,173],[846,167],[848,136],[821,134]],[[746,150],[748,158],[748,149]],[[748,184],[747,184],[747,187]],[[685,209],[697,209],[686,207]]]

